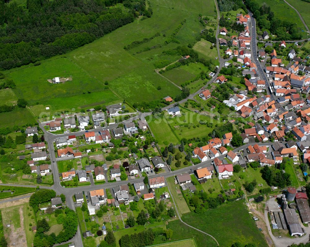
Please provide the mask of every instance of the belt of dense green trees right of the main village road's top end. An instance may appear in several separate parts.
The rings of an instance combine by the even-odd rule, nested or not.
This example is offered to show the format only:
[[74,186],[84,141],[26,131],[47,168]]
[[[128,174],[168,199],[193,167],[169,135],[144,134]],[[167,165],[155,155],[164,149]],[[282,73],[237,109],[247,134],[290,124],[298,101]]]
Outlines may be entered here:
[[[253,13],[257,20],[258,26],[262,30],[268,29],[272,34],[277,35],[275,40],[301,40],[302,35],[299,32],[296,23],[290,21],[282,21],[274,17],[274,13],[270,10],[270,6],[263,3],[259,6],[255,0],[245,0],[246,6]],[[259,32],[258,32],[259,33]]]

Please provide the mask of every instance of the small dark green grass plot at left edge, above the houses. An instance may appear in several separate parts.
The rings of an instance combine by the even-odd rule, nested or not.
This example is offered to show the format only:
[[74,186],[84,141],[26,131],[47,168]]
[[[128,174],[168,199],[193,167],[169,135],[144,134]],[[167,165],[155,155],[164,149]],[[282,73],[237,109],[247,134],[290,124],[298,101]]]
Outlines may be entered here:
[[35,122],[33,115],[28,109],[20,108],[12,112],[0,113],[0,127],[13,127],[14,125],[22,126],[27,123],[32,124]]

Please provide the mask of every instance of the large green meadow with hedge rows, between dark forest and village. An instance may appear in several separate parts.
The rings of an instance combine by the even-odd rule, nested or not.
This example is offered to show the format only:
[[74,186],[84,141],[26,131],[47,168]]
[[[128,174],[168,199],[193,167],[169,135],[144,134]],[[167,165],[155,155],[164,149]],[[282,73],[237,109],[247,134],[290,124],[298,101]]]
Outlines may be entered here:
[[[151,18],[136,20],[68,54],[96,79],[102,82],[107,80],[113,92],[130,103],[155,100],[167,94],[175,96],[179,93],[177,87],[154,72],[153,63],[162,59],[170,62],[179,59],[178,56],[162,56],[162,51],[193,42],[203,28],[198,21],[198,14],[214,14],[213,8],[210,8],[210,5],[214,6],[214,1],[211,0],[204,3],[187,0],[181,5],[177,1],[152,0],[150,4],[153,9]],[[180,44],[164,45],[166,38],[161,35],[133,49],[123,49],[125,45],[152,36],[156,32],[171,35],[184,19],[186,23],[176,35]],[[113,40],[117,42],[112,42]],[[157,44],[161,47],[143,51]],[[158,86],[165,90],[157,90]],[[143,93],[137,95],[135,92]]]

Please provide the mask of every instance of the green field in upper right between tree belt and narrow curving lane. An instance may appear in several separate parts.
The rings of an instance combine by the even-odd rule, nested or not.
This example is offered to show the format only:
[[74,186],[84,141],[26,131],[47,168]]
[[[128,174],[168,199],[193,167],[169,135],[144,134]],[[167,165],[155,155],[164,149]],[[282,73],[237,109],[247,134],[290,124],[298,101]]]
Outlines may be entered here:
[[264,2],[270,6],[274,16],[280,20],[286,20],[297,24],[297,27],[304,30],[305,26],[299,19],[298,14],[290,6],[281,0],[257,0],[261,6]]

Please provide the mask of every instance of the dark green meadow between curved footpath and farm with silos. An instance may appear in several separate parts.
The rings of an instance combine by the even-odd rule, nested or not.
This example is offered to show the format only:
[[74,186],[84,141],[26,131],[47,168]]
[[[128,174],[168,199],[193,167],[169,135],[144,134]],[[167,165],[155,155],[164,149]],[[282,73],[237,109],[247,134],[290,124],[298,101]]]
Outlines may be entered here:
[[235,242],[242,245],[255,243],[258,247],[268,246],[243,200],[223,204],[202,214],[191,212],[183,215],[182,219],[214,236],[223,247],[230,247]]

